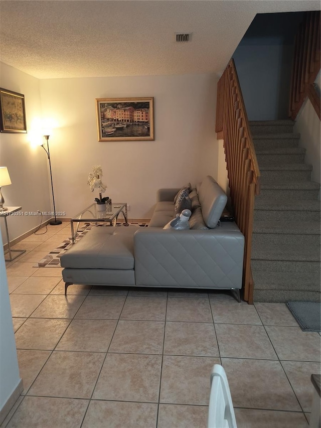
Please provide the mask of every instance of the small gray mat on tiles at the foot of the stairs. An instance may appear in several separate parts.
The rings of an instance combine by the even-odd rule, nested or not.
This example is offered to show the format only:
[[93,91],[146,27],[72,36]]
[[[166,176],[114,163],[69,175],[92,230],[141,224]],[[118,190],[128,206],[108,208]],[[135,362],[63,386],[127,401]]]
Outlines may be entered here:
[[319,332],[321,305],[317,302],[286,302],[302,331]]

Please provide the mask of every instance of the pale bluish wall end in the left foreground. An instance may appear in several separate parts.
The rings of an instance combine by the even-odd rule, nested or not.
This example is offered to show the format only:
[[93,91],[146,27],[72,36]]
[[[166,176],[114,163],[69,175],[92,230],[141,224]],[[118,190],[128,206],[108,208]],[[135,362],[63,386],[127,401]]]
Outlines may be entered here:
[[2,245],[0,234],[0,410],[4,408],[21,381]]

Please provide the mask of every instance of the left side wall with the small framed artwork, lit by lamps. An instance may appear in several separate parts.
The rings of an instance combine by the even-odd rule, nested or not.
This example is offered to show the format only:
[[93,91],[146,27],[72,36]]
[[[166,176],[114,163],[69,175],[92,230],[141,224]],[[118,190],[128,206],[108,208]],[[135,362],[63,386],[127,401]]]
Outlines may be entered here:
[[[51,211],[48,159],[41,147],[29,141],[36,119],[41,117],[39,80],[0,63],[0,86],[25,95],[27,133],[0,134],[0,165],[8,167],[12,185],[2,188],[5,206],[22,206],[22,212]],[[5,229],[1,221],[4,243]],[[40,223],[36,216],[10,216],[10,240]]]

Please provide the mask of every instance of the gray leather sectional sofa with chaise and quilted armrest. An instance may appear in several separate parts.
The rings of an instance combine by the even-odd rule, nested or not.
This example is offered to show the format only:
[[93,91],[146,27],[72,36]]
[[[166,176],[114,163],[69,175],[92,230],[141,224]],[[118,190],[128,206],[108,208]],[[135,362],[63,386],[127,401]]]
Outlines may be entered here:
[[239,300],[244,236],[220,222],[227,197],[207,176],[189,194],[190,229],[163,227],[175,218],[180,189],[161,189],[148,227],[98,226],[61,257],[65,294],[73,284],[228,289]]

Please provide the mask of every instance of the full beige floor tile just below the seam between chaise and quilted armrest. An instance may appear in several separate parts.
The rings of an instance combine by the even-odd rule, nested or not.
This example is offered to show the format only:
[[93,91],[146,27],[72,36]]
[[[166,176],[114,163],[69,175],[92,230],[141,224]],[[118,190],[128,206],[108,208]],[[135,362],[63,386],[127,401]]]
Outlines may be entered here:
[[165,321],[166,298],[128,296],[121,320]]

